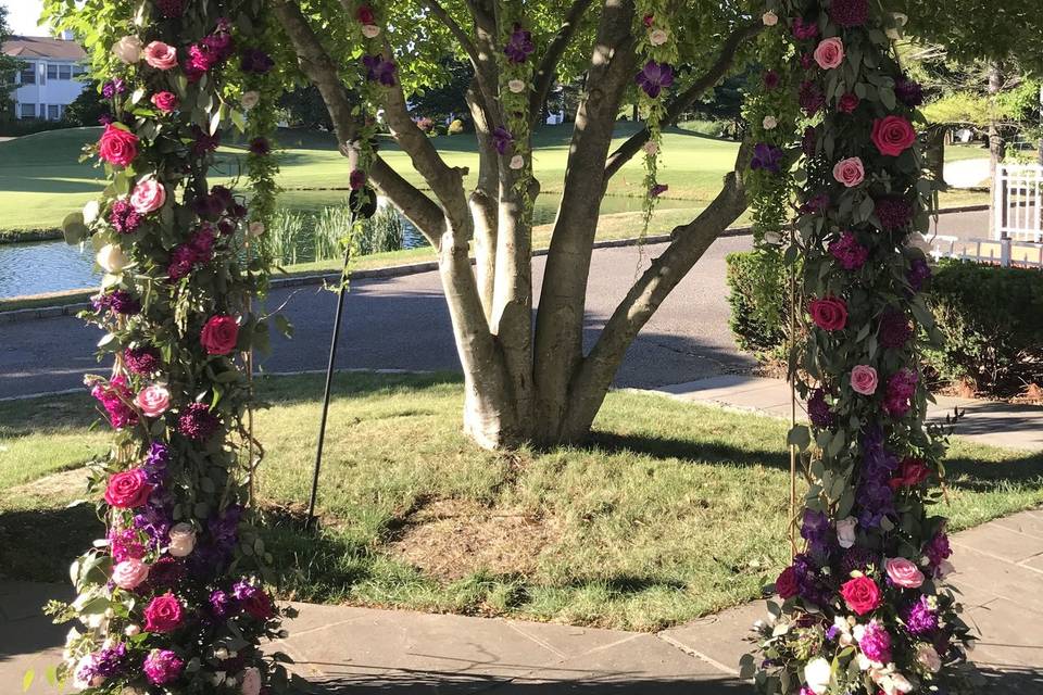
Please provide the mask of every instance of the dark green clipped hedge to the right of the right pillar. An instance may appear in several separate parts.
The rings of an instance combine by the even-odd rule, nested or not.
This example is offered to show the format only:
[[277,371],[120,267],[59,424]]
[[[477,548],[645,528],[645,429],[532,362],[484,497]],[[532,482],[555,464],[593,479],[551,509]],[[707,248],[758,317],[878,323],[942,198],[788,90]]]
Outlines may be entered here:
[[1000,396],[1043,384],[1043,273],[946,261],[930,299],[945,342],[927,357],[940,376]]

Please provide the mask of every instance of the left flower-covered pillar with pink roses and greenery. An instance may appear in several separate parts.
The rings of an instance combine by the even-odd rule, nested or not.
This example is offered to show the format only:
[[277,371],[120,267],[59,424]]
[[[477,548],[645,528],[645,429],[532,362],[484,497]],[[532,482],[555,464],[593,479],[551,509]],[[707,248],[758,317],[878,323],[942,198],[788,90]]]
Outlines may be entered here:
[[[93,244],[105,273],[88,315],[114,361],[111,376],[88,378],[113,430],[91,476],[108,534],[72,568],[77,598],[50,606],[77,621],[56,675],[98,694],[280,692],[285,669],[260,643],[279,634],[282,611],[243,506],[256,462],[243,456],[242,354],[266,336],[250,300],[266,282],[259,237],[275,168],[263,3],[49,10],[84,37],[111,105],[89,148],[109,187],[65,231]],[[253,210],[208,182],[230,124],[250,141]]]

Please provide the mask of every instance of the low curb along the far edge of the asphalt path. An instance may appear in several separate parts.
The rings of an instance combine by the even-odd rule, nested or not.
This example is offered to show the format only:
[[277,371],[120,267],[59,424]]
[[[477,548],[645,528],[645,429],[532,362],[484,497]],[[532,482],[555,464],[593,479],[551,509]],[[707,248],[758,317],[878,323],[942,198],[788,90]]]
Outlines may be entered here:
[[[962,207],[946,207],[938,211],[940,215],[953,213],[970,213],[989,210],[989,205],[964,205]],[[721,232],[721,238],[744,237],[753,233],[753,227],[732,227]],[[619,249],[623,247],[636,247],[639,244],[667,243],[673,239],[671,235],[656,235],[645,237],[644,239],[613,239],[608,241],[595,241],[593,248],[596,249]],[[545,256],[548,249],[538,249],[532,252],[532,256]],[[351,274],[352,280],[375,280],[384,278],[398,278],[406,275],[417,275],[419,273],[430,273],[438,269],[436,261],[424,263],[411,263],[407,265],[397,265],[388,268],[372,268],[368,270],[354,270]],[[340,279],[340,274],[336,271],[315,273],[312,275],[298,275],[285,278],[274,278],[272,289],[282,289],[288,287],[307,287],[312,285],[323,285],[326,282],[336,282]],[[39,306],[36,308],[20,308],[10,312],[0,311],[0,324],[17,324],[20,321],[34,320],[37,318],[55,318],[59,316],[75,316],[79,312],[90,308],[88,302],[77,302],[75,304],[64,304],[59,306]]]

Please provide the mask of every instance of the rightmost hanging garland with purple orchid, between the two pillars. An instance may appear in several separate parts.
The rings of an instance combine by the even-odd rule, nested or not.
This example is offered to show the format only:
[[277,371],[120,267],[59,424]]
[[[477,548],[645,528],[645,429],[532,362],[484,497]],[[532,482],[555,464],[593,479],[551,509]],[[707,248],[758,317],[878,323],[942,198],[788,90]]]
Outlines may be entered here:
[[668,0],[639,0],[636,3],[634,36],[637,52],[643,63],[634,77],[638,86],[638,105],[649,129],[644,143],[644,224],[643,239],[652,224],[652,214],[658,198],[669,190],[661,184],[658,172],[663,150],[663,125],[666,122],[666,94],[677,79],[675,65],[679,60],[677,39],[671,30]]

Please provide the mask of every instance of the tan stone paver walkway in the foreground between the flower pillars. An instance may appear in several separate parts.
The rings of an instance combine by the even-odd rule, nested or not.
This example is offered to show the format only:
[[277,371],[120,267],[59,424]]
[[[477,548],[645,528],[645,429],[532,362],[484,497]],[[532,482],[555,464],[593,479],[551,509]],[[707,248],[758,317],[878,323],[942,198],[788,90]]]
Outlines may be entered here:
[[[953,538],[965,619],[981,635],[972,658],[981,693],[1043,693],[1043,510]],[[0,583],[0,693],[60,658],[67,628],[39,614],[66,586]],[[749,695],[737,679],[755,602],[658,634],[560,624],[299,605],[273,645],[316,693],[491,695]],[[30,694],[54,693],[37,678]]]

